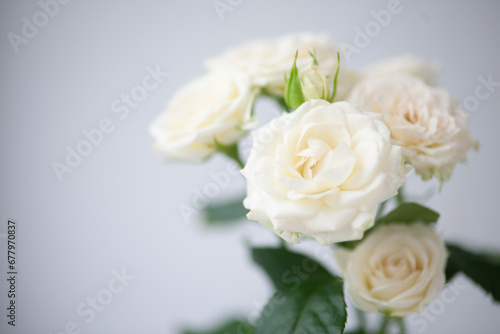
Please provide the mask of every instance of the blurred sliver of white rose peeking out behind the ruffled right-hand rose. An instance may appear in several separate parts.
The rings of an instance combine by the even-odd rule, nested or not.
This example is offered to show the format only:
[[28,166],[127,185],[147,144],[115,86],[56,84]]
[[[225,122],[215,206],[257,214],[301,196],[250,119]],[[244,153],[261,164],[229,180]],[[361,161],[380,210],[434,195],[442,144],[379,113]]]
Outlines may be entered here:
[[377,79],[394,75],[411,75],[433,84],[440,71],[441,66],[436,61],[405,55],[375,63],[366,70],[364,77]]

